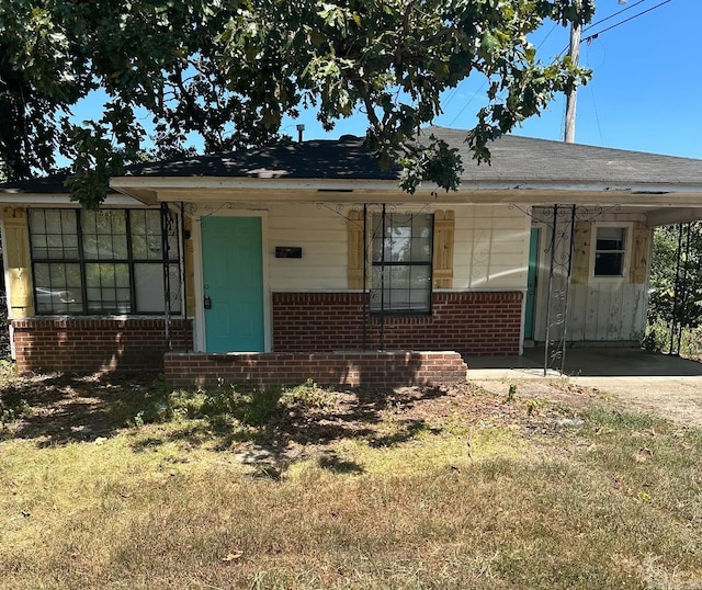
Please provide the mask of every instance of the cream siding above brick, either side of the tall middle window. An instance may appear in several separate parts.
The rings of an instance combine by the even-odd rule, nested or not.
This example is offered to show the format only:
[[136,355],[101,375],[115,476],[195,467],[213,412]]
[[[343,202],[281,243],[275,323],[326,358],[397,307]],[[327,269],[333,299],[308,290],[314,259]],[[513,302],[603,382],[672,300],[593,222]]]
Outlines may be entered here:
[[[455,290],[525,288],[530,223],[524,214],[507,205],[437,205],[433,209],[455,212]],[[271,290],[347,288],[347,226],[340,215],[314,204],[275,205],[269,209],[268,223]],[[276,259],[276,246],[299,246],[303,258]]]

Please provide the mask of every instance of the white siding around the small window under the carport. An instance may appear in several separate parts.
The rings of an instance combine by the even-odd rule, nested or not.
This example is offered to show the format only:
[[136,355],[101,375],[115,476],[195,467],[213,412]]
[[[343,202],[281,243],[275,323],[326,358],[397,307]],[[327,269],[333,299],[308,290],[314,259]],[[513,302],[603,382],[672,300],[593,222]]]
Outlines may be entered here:
[[[645,222],[645,216],[631,213],[609,214],[596,218],[598,224],[616,222],[627,226],[630,232],[631,256],[631,224]],[[629,225],[627,225],[629,224]],[[534,339],[545,339],[546,306],[548,304],[548,248],[551,229],[545,226],[541,231],[541,248],[539,250],[539,277],[536,286],[536,313],[534,318]],[[556,257],[565,253],[568,243],[564,242],[556,250]],[[592,261],[590,263],[590,280],[587,284],[571,284],[568,300],[568,333],[567,340],[574,342],[604,342],[604,341],[636,341],[643,337],[646,327],[648,284],[635,284],[629,280],[629,264],[625,276],[621,279],[595,279],[592,276]],[[558,313],[558,304],[554,306]],[[552,338],[559,338],[559,329],[553,328]]]

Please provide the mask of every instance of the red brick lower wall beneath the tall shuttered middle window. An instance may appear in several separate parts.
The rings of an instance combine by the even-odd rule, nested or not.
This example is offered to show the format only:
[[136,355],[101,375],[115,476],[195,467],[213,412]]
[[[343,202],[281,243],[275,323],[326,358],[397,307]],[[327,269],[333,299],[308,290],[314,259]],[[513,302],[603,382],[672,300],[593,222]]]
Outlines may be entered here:
[[[363,297],[362,293],[273,293],[273,350],[362,349]],[[383,348],[519,354],[521,313],[521,292],[434,293],[429,316],[385,317]],[[380,319],[370,317],[366,348],[380,348]]]

